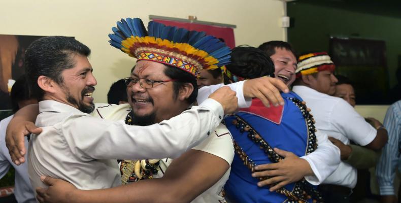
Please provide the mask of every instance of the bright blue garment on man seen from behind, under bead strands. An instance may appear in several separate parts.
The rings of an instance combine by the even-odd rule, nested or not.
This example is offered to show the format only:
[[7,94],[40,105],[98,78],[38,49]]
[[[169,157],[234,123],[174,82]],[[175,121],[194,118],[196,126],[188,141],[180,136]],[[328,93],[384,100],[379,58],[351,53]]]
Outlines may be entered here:
[[[284,97],[296,97],[302,100],[293,92],[288,94],[281,93]],[[269,114],[269,108],[263,108],[258,104],[258,108],[264,110],[262,113],[253,112],[238,112],[236,115],[245,120],[254,130],[259,132],[260,136],[270,144],[282,150],[290,151],[298,157],[304,156],[307,149],[308,131],[306,121],[291,100],[284,98],[284,107],[281,115],[275,115],[270,119],[266,114]],[[254,100],[252,106],[254,106]],[[277,112],[277,111],[276,111]],[[281,116],[281,121],[277,123],[278,117]],[[225,125],[231,132],[233,139],[245,151],[245,153],[255,162],[256,165],[272,163],[268,155],[259,148],[259,145],[254,143],[247,137],[247,132],[240,132],[232,121],[235,116],[229,116],[224,119]],[[225,184],[224,190],[226,197],[232,202],[283,202],[287,199],[285,195],[277,192],[270,192],[269,187],[258,187],[258,179],[251,176],[251,171],[244,165],[239,155],[236,153],[231,164],[231,172],[228,181]],[[288,184],[285,188],[292,191],[294,183]]]

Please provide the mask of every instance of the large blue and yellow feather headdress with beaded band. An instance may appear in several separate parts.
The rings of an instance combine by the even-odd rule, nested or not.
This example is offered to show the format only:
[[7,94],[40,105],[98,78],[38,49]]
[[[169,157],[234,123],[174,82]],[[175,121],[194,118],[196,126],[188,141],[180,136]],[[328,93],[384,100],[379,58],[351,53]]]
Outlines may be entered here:
[[217,69],[230,63],[230,48],[206,32],[154,21],[149,22],[147,31],[139,18],[121,19],[112,30],[110,45],[129,56],[173,65],[194,76],[202,69]]

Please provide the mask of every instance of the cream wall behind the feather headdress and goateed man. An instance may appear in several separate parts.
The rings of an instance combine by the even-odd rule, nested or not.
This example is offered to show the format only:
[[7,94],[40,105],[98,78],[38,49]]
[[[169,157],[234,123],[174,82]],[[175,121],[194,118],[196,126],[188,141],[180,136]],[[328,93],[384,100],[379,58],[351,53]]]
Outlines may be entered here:
[[145,26],[149,15],[235,24],[236,45],[258,46],[284,40],[279,20],[283,3],[277,0],[0,0],[0,34],[71,36],[92,50],[90,62],[97,79],[96,103],[107,102],[112,82],[127,77],[135,59],[111,47],[108,33],[116,21],[139,17]]

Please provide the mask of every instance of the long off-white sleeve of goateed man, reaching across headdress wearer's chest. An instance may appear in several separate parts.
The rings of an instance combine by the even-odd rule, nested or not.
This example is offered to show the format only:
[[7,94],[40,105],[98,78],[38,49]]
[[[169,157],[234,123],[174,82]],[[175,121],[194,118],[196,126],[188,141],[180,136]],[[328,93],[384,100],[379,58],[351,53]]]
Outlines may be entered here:
[[223,118],[221,105],[207,99],[178,116],[149,126],[126,125],[89,116],[72,117],[61,130],[82,160],[176,158],[205,140]]

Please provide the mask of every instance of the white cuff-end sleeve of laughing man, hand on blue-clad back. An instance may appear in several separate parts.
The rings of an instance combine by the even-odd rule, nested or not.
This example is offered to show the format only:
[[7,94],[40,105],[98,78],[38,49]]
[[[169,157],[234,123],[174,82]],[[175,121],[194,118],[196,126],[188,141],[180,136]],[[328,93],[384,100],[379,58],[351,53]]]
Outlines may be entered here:
[[327,139],[327,135],[320,133],[319,131],[315,134],[318,141],[317,149],[300,158],[308,161],[314,173],[314,176],[307,176],[305,177],[305,180],[312,185],[319,185],[336,171],[341,160],[340,149]]

